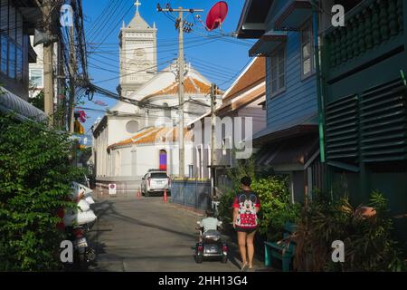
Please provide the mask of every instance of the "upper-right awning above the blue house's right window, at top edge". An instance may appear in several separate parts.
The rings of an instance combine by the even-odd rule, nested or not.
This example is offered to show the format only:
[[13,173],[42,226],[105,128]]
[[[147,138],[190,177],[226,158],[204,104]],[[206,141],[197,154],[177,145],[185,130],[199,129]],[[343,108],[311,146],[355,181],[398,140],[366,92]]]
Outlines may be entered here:
[[311,16],[312,5],[310,0],[290,0],[282,9],[276,23],[276,30],[298,31]]

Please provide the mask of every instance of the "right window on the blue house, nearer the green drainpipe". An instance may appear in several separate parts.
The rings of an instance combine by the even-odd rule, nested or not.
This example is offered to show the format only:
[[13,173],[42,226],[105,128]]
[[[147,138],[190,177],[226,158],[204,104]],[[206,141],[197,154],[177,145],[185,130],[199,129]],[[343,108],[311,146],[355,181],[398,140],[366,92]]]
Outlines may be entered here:
[[315,73],[315,54],[314,46],[312,45],[313,33],[311,23],[308,21],[301,28],[301,79]]

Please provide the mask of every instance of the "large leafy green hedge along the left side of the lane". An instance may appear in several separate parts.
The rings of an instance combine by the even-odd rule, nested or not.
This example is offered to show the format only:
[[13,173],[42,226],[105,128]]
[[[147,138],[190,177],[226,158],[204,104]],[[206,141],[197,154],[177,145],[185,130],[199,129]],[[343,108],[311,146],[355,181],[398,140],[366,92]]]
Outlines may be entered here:
[[59,268],[63,234],[56,227],[71,180],[68,134],[0,114],[0,271]]

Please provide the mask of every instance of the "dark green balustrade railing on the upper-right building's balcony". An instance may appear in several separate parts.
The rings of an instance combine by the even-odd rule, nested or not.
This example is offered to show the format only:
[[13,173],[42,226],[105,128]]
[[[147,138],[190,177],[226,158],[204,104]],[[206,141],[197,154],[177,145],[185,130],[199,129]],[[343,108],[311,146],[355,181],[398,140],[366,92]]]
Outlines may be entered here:
[[329,67],[336,68],[403,34],[403,0],[367,0],[345,15],[345,27],[325,34]]

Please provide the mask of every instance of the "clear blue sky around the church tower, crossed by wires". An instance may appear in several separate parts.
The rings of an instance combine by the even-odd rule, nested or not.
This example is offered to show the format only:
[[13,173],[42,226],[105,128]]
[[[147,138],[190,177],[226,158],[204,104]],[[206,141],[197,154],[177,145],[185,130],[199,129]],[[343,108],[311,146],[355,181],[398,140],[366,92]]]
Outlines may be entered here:
[[[118,33],[123,20],[126,24],[133,18],[136,12],[135,0],[84,0],[83,13],[85,18],[85,36],[88,44],[88,62],[91,82],[111,92],[116,92],[118,86]],[[166,62],[177,57],[177,32],[175,31],[172,15],[156,12],[156,4],[165,7],[169,3],[173,8],[202,8],[199,13],[205,23],[206,14],[216,3],[216,0],[140,0],[140,14],[152,25],[156,23],[157,32],[157,63],[163,69]],[[186,61],[202,73],[211,82],[215,82],[222,89],[227,89],[241,69],[250,62],[248,51],[252,41],[238,40],[222,34],[232,34],[236,30],[241,14],[242,0],[226,1],[229,5],[229,14],[222,24],[222,30],[208,33],[204,26],[196,21],[192,14],[188,14],[186,21],[194,23],[194,32],[185,34],[185,57]],[[187,15],[187,14],[185,14]],[[174,16],[176,16],[174,14]],[[123,18],[123,19],[122,19]],[[212,38],[211,38],[212,37]],[[115,100],[95,94],[93,102],[85,101],[80,105],[90,117],[84,124],[85,131],[89,131],[91,125],[103,111],[115,104]],[[101,101],[108,104],[107,107],[95,104]],[[95,111],[93,111],[95,110]]]

